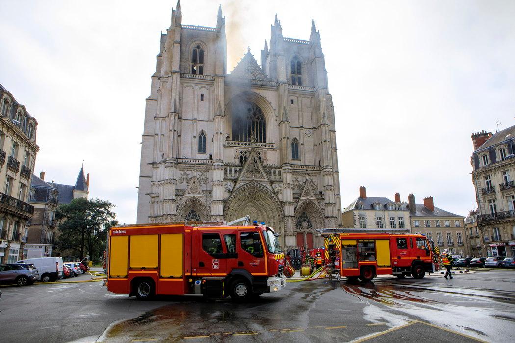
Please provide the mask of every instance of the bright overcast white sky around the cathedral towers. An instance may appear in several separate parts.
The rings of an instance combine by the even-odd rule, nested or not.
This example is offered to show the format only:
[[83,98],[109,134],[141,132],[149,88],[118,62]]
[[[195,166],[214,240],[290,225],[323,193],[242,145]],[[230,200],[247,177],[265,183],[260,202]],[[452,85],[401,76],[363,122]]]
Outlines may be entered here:
[[[467,215],[472,132],[515,116],[513,1],[188,1],[182,23],[226,16],[228,72],[284,37],[320,31],[335,106],[342,207],[369,196]],[[144,4],[144,5],[142,5]],[[0,2],[0,83],[38,120],[35,174],[74,184],[135,223],[145,99],[175,1]]]

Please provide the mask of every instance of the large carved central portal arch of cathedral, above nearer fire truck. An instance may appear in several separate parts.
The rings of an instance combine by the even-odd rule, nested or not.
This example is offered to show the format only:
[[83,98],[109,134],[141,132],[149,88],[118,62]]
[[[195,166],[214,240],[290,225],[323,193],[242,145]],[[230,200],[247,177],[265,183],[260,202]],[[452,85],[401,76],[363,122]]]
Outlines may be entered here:
[[[250,220],[265,222],[283,235],[283,209],[275,194],[266,186],[249,182],[236,189],[227,200],[224,216],[227,221],[250,215]],[[281,237],[284,241],[284,237]]]

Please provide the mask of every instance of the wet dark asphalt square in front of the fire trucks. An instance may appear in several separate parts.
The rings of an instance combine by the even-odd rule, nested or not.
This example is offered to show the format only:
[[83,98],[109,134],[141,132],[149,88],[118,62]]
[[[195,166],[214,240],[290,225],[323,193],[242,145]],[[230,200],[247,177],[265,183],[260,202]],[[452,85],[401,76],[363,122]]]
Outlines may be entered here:
[[[141,302],[101,282],[2,287],[0,341],[512,341],[515,271],[288,283],[258,301]],[[108,328],[109,327],[109,328]]]

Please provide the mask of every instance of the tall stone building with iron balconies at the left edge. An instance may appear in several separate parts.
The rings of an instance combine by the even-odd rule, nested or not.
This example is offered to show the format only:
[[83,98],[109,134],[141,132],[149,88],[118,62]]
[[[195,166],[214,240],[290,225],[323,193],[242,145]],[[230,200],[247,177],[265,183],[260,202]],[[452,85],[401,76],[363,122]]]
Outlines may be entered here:
[[25,106],[0,85],[0,263],[22,258],[26,225],[34,213],[28,202],[39,151],[37,125]]

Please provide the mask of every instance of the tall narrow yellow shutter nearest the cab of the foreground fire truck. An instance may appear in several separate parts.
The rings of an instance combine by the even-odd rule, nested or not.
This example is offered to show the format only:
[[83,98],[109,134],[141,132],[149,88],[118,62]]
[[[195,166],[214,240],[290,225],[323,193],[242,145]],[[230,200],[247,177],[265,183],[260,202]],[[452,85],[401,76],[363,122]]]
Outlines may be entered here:
[[180,278],[182,268],[182,233],[161,235],[161,277]]

